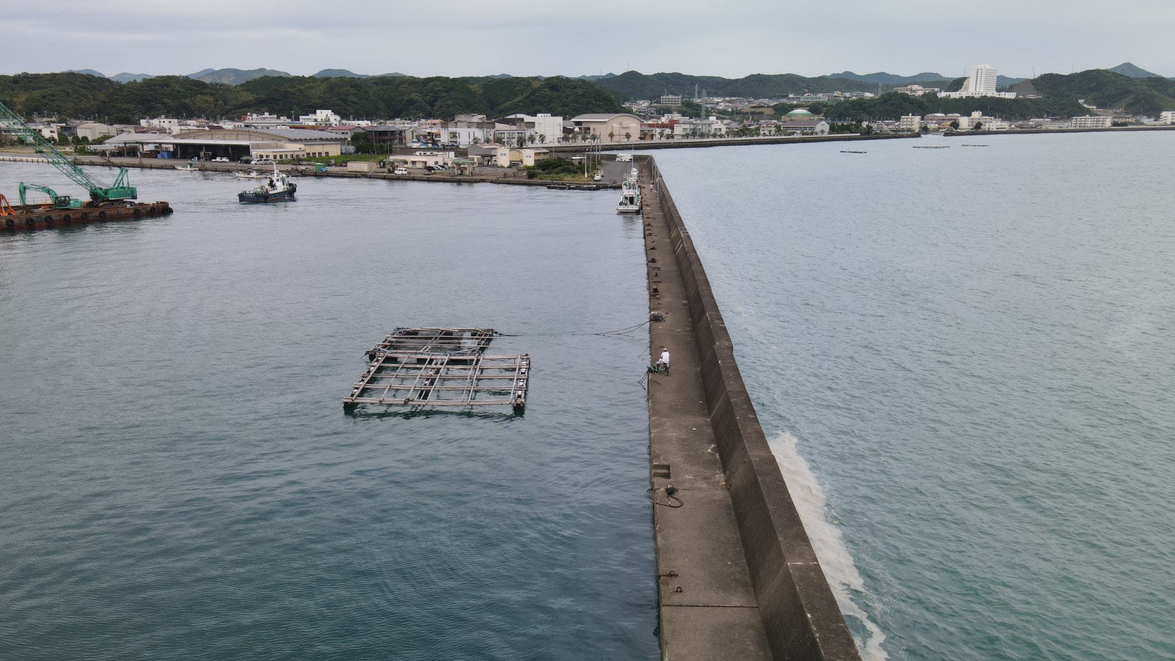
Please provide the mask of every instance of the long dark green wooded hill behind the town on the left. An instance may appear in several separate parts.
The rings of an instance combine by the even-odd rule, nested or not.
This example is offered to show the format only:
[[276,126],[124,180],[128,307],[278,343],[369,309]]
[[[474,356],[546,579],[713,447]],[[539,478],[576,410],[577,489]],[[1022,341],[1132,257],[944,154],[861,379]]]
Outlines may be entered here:
[[513,113],[619,113],[613,93],[568,77],[451,79],[381,76],[263,76],[242,85],[187,76],[115,82],[79,73],[0,75],[0,102],[25,117],[34,114],[136,123],[159,115],[216,120],[268,112],[296,117],[329,108],[345,119],[490,117]]

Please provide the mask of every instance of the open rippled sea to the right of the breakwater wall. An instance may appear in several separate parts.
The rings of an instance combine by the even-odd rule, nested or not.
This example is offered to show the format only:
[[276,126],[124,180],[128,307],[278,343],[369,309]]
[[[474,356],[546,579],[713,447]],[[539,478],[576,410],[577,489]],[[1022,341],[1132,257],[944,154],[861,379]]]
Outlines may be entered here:
[[1175,659],[1173,153],[656,154],[867,659]]

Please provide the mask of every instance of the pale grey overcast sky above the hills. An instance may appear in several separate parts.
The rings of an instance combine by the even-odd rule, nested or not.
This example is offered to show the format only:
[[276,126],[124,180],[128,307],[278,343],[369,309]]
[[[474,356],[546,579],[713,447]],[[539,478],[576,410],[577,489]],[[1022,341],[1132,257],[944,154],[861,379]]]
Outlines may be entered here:
[[0,73],[325,68],[417,76],[842,70],[1175,76],[1175,2],[46,0],[4,2]]

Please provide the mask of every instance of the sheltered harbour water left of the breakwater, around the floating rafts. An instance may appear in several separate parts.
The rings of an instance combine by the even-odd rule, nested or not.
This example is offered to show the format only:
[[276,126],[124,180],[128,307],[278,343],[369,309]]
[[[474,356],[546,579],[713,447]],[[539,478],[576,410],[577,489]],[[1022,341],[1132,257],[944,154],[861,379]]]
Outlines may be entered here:
[[[177,213],[0,235],[0,659],[657,657],[615,195],[132,180]],[[344,414],[405,325],[509,333],[525,414]]]

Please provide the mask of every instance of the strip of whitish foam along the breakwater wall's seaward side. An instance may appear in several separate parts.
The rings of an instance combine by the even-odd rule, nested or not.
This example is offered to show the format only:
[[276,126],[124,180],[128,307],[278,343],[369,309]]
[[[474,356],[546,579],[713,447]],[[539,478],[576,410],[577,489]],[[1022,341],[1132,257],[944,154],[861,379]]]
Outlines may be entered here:
[[840,612],[846,618],[852,618],[865,628],[865,635],[858,636],[857,646],[860,648],[864,661],[886,661],[889,655],[881,648],[885,642],[885,633],[875,622],[870,619],[868,613],[853,600],[854,595],[865,594],[865,581],[861,579],[853,557],[845,545],[845,538],[840,528],[828,520],[827,500],[824,497],[824,488],[817,481],[815,474],[807,461],[800,457],[795,450],[795,437],[780,432],[767,439],[779,471],[787,483],[787,491],[792,495],[795,510],[804,522],[812,548],[820,560],[825,578],[832,587],[832,593],[837,596]]

